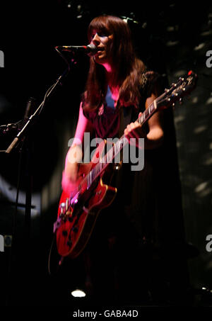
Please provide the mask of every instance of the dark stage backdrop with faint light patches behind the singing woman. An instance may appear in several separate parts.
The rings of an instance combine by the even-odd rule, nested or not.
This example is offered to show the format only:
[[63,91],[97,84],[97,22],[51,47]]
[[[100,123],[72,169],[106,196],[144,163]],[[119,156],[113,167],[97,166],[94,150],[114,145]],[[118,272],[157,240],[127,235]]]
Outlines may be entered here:
[[[146,1],[45,1],[1,4],[1,47],[5,67],[0,69],[0,125],[23,118],[31,96],[38,106],[49,86],[66,69],[55,45],[87,44],[90,20],[101,13],[128,17],[139,57],[160,72],[168,84],[193,69],[198,85],[184,105],[173,114],[176,130],[182,209],[189,247],[189,278],[197,303],[208,300],[211,283],[211,252],[206,236],[212,234],[211,104],[212,68],[206,67],[206,52],[212,50],[212,7],[208,2],[169,4]],[[68,56],[69,57],[69,56]],[[61,193],[61,171],[73,137],[80,94],[88,69],[88,57],[78,63],[47,101],[33,128],[33,205],[30,238],[25,228],[24,208],[16,213],[16,186],[20,172],[19,203],[25,203],[26,154],[18,171],[18,150],[0,154],[0,234],[13,235],[13,247],[0,253],[2,305],[55,305],[71,297],[74,286],[65,276],[48,274],[52,226]],[[5,150],[14,133],[0,133],[0,150]],[[173,191],[175,193],[175,191]],[[171,213],[171,210],[170,210]],[[171,242],[171,240],[170,240]],[[72,279],[78,262],[70,271]],[[78,274],[76,274],[78,276]],[[80,280],[80,278],[79,278]],[[61,286],[61,282],[65,286]],[[204,295],[202,288],[207,288]],[[61,291],[61,292],[60,292]],[[64,301],[63,301],[64,300]],[[68,299],[69,301],[69,299]],[[71,302],[71,298],[70,298]]]

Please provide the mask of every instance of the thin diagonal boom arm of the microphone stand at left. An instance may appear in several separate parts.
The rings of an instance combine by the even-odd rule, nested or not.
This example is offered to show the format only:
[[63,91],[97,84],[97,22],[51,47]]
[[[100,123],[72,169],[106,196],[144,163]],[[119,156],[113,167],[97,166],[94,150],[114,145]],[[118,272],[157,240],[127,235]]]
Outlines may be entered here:
[[28,127],[33,123],[33,120],[35,119],[35,117],[37,115],[40,114],[40,112],[42,111],[42,107],[45,104],[46,99],[49,97],[50,94],[52,94],[52,91],[54,91],[54,89],[57,87],[58,84],[60,84],[61,80],[69,73],[69,68],[66,69],[64,71],[63,74],[61,74],[61,76],[57,79],[57,81],[55,82],[55,84],[53,84],[48,90],[47,93],[45,94],[45,98],[42,101],[42,103],[40,104],[40,106],[37,108],[37,110],[35,111],[35,113],[33,113],[32,116],[30,116],[30,118],[28,119],[27,123],[25,123],[25,125],[23,126],[22,130],[20,130],[20,132],[18,133],[18,135],[13,139],[13,142],[11,142],[11,145],[8,146],[8,148],[5,150],[6,154],[9,154],[14,147],[16,147],[16,145],[18,144],[18,142],[20,142],[21,138],[23,137],[24,133],[26,130],[28,130]]

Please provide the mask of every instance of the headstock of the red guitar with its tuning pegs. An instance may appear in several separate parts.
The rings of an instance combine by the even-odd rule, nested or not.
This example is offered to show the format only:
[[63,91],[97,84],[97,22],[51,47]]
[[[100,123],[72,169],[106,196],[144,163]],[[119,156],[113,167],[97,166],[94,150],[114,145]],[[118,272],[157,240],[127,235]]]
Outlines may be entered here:
[[180,101],[194,90],[196,81],[197,75],[192,70],[188,72],[187,77],[179,77],[176,84],[172,84],[170,89],[165,89],[165,92],[156,99],[157,107],[168,108],[174,105],[176,101]]

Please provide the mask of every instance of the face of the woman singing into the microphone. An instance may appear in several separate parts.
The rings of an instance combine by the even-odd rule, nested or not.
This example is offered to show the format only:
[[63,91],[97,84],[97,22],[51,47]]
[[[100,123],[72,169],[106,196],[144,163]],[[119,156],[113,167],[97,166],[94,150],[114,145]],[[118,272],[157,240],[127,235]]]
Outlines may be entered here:
[[100,30],[93,30],[91,33],[91,43],[98,47],[98,52],[94,55],[98,64],[112,64],[111,44],[113,35],[106,35]]

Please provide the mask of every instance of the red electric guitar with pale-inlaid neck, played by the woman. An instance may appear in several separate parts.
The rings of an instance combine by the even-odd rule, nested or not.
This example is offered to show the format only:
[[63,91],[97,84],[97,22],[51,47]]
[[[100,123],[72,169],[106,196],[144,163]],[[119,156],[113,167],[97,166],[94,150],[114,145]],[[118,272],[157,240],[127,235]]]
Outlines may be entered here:
[[[138,118],[143,125],[153,114],[181,101],[196,86],[197,76],[190,71],[187,77],[180,77],[176,84],[156,98]],[[118,164],[113,159],[119,154],[128,140],[124,135],[115,142],[105,154],[105,143],[102,141],[90,163],[81,164],[79,175],[83,176],[71,194],[62,192],[59,201],[57,221],[54,233],[57,240],[57,252],[61,257],[77,257],[90,238],[100,210],[109,206],[114,200],[117,188],[110,186],[114,169]],[[98,159],[98,162],[97,162]]]

